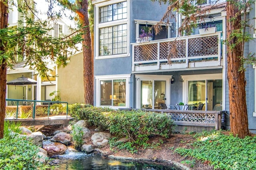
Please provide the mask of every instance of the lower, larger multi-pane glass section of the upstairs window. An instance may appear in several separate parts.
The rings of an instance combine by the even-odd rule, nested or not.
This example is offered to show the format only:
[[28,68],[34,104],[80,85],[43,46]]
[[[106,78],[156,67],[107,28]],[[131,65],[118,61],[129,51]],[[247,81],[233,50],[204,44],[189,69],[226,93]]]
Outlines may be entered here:
[[127,53],[127,24],[100,28],[100,56]]

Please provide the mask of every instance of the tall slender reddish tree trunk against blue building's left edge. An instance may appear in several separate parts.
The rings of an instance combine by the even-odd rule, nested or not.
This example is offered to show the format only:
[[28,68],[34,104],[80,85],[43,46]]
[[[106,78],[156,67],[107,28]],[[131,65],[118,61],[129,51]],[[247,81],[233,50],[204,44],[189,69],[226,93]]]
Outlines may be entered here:
[[83,56],[84,56],[84,100],[86,104],[93,105],[93,60],[92,60],[92,49],[91,49],[91,38],[90,38],[90,23],[88,19],[88,1],[82,0],[79,2],[81,9],[77,10],[80,21],[83,26],[84,34],[82,38],[83,44]]

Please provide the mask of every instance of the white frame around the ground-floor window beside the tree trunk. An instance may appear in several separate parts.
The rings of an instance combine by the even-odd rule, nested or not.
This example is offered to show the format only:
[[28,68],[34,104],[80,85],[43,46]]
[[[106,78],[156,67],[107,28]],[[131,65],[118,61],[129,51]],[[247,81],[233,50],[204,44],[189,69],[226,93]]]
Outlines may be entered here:
[[[98,107],[110,107],[110,108],[127,108],[130,106],[130,88],[129,88],[129,80],[131,74],[116,74],[116,75],[104,75],[104,76],[95,76],[96,79],[96,106]],[[100,105],[100,81],[102,80],[118,80],[125,79],[126,80],[126,99],[125,106],[101,106]]]

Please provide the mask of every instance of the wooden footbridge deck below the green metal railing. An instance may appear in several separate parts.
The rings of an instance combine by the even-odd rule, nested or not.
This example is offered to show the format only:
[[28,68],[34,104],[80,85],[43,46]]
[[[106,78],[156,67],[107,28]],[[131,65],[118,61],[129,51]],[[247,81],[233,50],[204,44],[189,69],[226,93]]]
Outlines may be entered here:
[[21,122],[22,126],[33,126],[33,125],[65,125],[69,121],[73,120],[73,117],[66,115],[59,116],[50,116],[49,119],[47,117],[36,118],[36,119],[5,119],[5,121],[9,122]]

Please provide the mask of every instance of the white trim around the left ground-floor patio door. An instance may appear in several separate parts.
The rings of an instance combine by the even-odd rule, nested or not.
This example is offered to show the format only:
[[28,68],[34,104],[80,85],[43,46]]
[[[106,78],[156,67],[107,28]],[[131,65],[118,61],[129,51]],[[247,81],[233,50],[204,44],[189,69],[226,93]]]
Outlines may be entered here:
[[[135,80],[136,80],[136,108],[140,109],[140,101],[141,101],[141,84],[139,80],[162,80],[166,81],[166,106],[170,105],[170,79],[172,78],[172,75],[150,75],[150,74],[135,74]],[[154,86],[153,89],[154,90]],[[152,103],[154,103],[154,99],[152,99]]]

